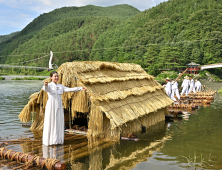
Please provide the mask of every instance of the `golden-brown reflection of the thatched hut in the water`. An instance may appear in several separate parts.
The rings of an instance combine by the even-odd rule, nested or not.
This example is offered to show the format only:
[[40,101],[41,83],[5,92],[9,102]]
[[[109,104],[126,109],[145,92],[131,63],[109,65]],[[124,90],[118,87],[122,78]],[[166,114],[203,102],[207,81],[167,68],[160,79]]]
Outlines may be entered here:
[[153,152],[172,139],[170,133],[165,133],[167,128],[169,126],[163,121],[147,129],[146,133],[138,133],[140,140],[137,142],[121,140],[111,146],[93,148],[88,157],[74,161],[70,159],[67,169],[132,169],[148,161]]

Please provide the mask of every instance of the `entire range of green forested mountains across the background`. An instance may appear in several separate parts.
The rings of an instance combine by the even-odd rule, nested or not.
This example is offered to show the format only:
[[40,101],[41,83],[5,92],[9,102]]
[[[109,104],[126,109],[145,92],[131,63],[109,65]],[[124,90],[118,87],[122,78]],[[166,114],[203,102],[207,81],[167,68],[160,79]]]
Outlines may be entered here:
[[[150,74],[156,74],[159,68],[180,67],[191,61],[222,62],[222,0],[169,0],[144,12],[128,5],[85,8],[85,16],[81,12],[74,17],[66,15],[66,8],[41,15],[24,29],[27,33],[22,30],[18,34],[25,37],[23,41],[17,35],[11,42],[1,43],[0,55],[48,54],[52,50],[63,52],[54,53],[57,65],[73,60],[134,62],[148,68]],[[92,16],[94,12],[90,11],[99,14]],[[48,15],[63,19],[50,23]],[[7,57],[1,62],[15,63],[36,57],[40,56]],[[31,65],[43,66],[42,62]]]

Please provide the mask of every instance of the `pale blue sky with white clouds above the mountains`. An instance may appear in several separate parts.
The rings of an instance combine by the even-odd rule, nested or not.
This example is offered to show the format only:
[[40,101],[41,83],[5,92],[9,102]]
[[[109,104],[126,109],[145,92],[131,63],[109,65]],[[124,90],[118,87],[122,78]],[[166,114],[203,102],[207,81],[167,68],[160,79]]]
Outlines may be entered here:
[[167,0],[0,0],[0,35],[21,31],[40,14],[64,6],[128,4],[140,11]]

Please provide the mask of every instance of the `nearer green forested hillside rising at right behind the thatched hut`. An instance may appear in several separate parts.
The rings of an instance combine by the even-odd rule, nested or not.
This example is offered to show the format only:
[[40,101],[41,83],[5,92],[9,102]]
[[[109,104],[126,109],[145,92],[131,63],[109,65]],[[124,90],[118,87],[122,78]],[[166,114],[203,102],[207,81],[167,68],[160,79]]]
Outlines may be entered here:
[[127,48],[92,51],[90,59],[135,62],[154,75],[191,61],[222,62],[221,21],[222,1],[169,0],[104,32],[93,46]]

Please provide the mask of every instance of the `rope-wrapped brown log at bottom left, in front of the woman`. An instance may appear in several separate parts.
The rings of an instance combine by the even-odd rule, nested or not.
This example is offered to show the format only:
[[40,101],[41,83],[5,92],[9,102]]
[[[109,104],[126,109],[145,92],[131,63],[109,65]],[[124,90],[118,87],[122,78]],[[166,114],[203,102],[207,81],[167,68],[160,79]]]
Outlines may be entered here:
[[[30,155],[30,154],[24,154],[24,153],[19,153],[19,152],[15,152],[15,151],[11,151],[10,150],[7,150],[5,148],[0,148],[0,157],[3,157],[5,159],[10,159],[11,161],[19,161],[21,160],[22,163],[27,163],[31,160],[34,159],[34,155]],[[16,156],[14,156],[16,155]],[[27,155],[27,159],[26,159],[26,155]],[[47,168],[47,165],[45,164],[45,161],[47,161],[47,159],[45,158],[39,158],[39,161],[37,162],[37,160],[35,159],[33,161],[33,163],[35,165],[37,165],[37,163],[39,163],[39,165],[43,165],[44,164],[44,167]],[[65,170],[66,169],[66,164],[65,163],[61,163],[61,162],[57,162],[55,163],[54,167],[53,167],[55,170]]]

